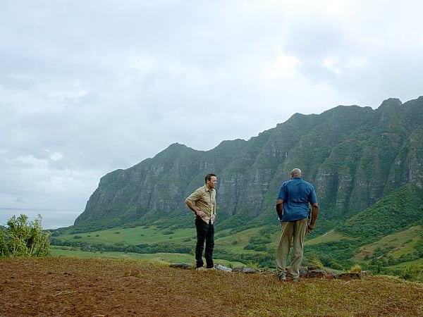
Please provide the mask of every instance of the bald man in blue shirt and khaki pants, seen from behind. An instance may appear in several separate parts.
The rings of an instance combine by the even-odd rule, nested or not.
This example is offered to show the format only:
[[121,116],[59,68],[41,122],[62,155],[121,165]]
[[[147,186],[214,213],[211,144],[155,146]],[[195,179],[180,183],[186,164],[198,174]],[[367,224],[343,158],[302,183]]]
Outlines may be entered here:
[[[298,282],[305,234],[314,228],[319,204],[313,185],[302,180],[299,168],[294,168],[290,177],[290,180],[283,182],[276,200],[276,211],[282,225],[281,240],[276,250],[276,269],[279,280],[286,280],[286,261],[293,241],[294,250],[289,275],[292,276],[293,282]],[[312,205],[310,223],[308,223],[309,204]]]

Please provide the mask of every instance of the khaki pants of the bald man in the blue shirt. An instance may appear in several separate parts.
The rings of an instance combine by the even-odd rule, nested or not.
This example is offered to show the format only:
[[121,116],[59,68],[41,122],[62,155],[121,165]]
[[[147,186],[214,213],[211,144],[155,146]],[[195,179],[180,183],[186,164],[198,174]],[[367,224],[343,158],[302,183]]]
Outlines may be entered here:
[[285,272],[286,261],[293,241],[293,256],[290,263],[290,275],[293,278],[300,277],[300,265],[302,261],[302,250],[304,249],[304,239],[307,233],[307,218],[286,221],[282,223],[281,240],[279,240],[276,250],[276,269],[278,273]]

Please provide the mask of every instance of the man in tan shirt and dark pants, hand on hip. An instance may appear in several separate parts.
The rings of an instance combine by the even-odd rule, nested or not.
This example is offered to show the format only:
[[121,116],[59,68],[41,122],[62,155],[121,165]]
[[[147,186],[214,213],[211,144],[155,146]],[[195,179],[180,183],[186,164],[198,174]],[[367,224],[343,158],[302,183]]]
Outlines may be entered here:
[[202,252],[204,241],[206,250],[206,268],[214,268],[214,220],[216,219],[216,184],[217,178],[214,174],[207,174],[204,178],[205,184],[199,187],[185,199],[185,204],[195,213],[195,228],[197,229],[197,246],[195,247],[195,261],[197,269],[204,266]]

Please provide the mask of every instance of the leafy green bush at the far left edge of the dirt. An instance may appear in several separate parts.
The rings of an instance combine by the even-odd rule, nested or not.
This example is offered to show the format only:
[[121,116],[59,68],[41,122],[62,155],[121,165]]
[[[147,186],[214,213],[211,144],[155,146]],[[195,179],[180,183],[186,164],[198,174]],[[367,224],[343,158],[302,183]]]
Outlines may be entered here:
[[28,217],[12,216],[6,227],[0,228],[0,256],[47,256],[50,234],[42,232],[41,216],[28,222]]

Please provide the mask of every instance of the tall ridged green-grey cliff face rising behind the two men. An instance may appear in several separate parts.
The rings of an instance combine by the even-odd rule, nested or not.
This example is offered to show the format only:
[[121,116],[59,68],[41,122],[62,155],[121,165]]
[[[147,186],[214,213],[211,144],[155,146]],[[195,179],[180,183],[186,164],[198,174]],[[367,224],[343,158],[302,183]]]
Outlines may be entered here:
[[324,213],[357,213],[393,189],[423,186],[423,97],[379,108],[338,106],[320,115],[296,113],[248,141],[224,141],[210,151],[172,144],[153,159],[105,175],[79,223],[188,213],[185,197],[218,176],[218,212],[264,217],[274,210],[281,182],[301,168]]

